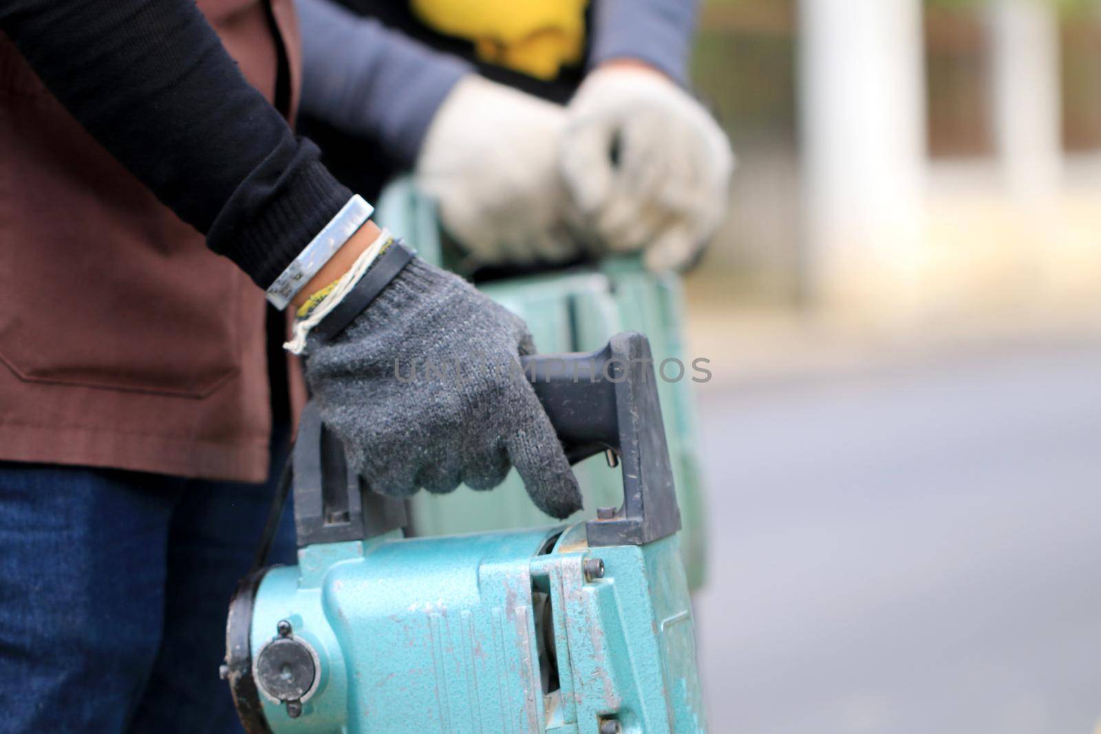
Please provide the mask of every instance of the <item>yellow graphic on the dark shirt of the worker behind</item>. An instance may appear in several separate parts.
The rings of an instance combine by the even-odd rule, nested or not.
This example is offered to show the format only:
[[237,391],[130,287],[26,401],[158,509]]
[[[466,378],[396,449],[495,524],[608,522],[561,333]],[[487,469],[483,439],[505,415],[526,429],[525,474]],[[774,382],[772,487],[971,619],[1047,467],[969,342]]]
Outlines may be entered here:
[[553,79],[585,53],[588,0],[410,0],[421,21],[472,41],[480,61]]

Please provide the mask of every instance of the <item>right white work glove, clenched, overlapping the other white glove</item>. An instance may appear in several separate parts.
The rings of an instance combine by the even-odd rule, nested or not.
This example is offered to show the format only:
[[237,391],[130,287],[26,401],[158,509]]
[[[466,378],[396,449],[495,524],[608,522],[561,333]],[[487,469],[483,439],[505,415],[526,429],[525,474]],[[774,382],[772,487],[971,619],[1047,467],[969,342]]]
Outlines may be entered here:
[[598,68],[567,107],[559,167],[603,251],[689,263],[722,222],[734,157],[704,107],[662,74]]

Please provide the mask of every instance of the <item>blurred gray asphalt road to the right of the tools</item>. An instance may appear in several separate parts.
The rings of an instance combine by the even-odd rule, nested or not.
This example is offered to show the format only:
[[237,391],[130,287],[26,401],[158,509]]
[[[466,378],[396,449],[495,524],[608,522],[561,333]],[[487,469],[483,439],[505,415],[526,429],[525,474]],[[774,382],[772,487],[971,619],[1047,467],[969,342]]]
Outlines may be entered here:
[[701,395],[718,734],[1101,717],[1101,340]]

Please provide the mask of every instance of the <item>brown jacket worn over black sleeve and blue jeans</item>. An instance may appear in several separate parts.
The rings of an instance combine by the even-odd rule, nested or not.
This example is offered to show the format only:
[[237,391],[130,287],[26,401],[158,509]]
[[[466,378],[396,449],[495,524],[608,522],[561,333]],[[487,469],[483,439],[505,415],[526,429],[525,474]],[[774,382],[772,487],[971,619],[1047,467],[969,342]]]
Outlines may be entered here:
[[[269,100],[288,84],[291,119],[292,0],[198,6]],[[0,35],[0,460],[261,481],[269,406],[261,291]]]

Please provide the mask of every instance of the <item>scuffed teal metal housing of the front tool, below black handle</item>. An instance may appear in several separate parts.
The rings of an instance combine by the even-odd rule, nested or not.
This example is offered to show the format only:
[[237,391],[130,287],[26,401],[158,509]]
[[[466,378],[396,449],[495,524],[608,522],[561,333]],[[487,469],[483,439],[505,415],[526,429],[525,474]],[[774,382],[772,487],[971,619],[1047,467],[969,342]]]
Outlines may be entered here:
[[268,571],[252,615],[253,660],[285,622],[319,671],[295,717],[261,691],[276,734],[706,731],[676,535],[589,548],[580,523],[307,546]]

